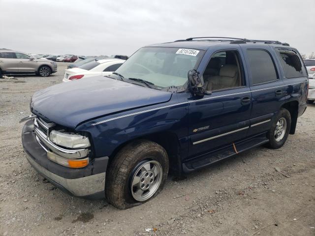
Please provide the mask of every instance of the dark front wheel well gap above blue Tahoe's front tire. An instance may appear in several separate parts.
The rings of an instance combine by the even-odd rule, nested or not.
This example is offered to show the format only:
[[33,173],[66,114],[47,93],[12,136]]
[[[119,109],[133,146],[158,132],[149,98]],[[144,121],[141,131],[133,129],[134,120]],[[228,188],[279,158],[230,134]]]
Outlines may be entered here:
[[177,135],[169,131],[163,131],[145,136],[140,136],[122,143],[117,148],[115,148],[114,151],[109,156],[109,163],[115,158],[115,155],[122,148],[138,140],[152,141],[163,147],[168,155],[169,169],[172,170],[172,175],[180,175],[182,173],[180,143]]

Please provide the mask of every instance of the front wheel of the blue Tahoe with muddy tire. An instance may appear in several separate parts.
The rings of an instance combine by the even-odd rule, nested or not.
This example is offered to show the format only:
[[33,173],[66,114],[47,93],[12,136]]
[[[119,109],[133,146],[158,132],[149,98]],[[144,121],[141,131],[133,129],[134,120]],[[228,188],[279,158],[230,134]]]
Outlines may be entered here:
[[122,148],[109,165],[106,198],[119,209],[140,205],[158,195],[167,174],[165,149],[151,141],[134,141]]

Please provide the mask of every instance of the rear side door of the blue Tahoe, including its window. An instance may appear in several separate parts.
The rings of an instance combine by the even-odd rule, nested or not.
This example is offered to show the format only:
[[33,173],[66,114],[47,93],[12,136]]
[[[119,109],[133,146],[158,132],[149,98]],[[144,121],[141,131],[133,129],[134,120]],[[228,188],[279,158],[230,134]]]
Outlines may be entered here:
[[263,133],[285,101],[285,86],[280,77],[275,53],[269,45],[242,45],[252,91],[249,136]]

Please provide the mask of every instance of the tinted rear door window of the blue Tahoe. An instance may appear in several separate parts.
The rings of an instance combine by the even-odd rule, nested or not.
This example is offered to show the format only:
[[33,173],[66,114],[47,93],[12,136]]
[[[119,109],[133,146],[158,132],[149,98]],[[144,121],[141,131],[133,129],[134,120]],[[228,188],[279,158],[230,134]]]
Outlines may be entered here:
[[247,55],[253,85],[278,79],[274,62],[269,53],[263,50],[247,50]]

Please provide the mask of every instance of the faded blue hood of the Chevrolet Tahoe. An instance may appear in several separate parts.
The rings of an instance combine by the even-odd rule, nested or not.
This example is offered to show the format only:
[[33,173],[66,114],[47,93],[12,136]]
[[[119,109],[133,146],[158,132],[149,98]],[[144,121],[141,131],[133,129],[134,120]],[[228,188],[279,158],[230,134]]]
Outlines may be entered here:
[[32,113],[75,128],[79,123],[112,113],[169,101],[172,93],[103,76],[62,83],[32,96]]

